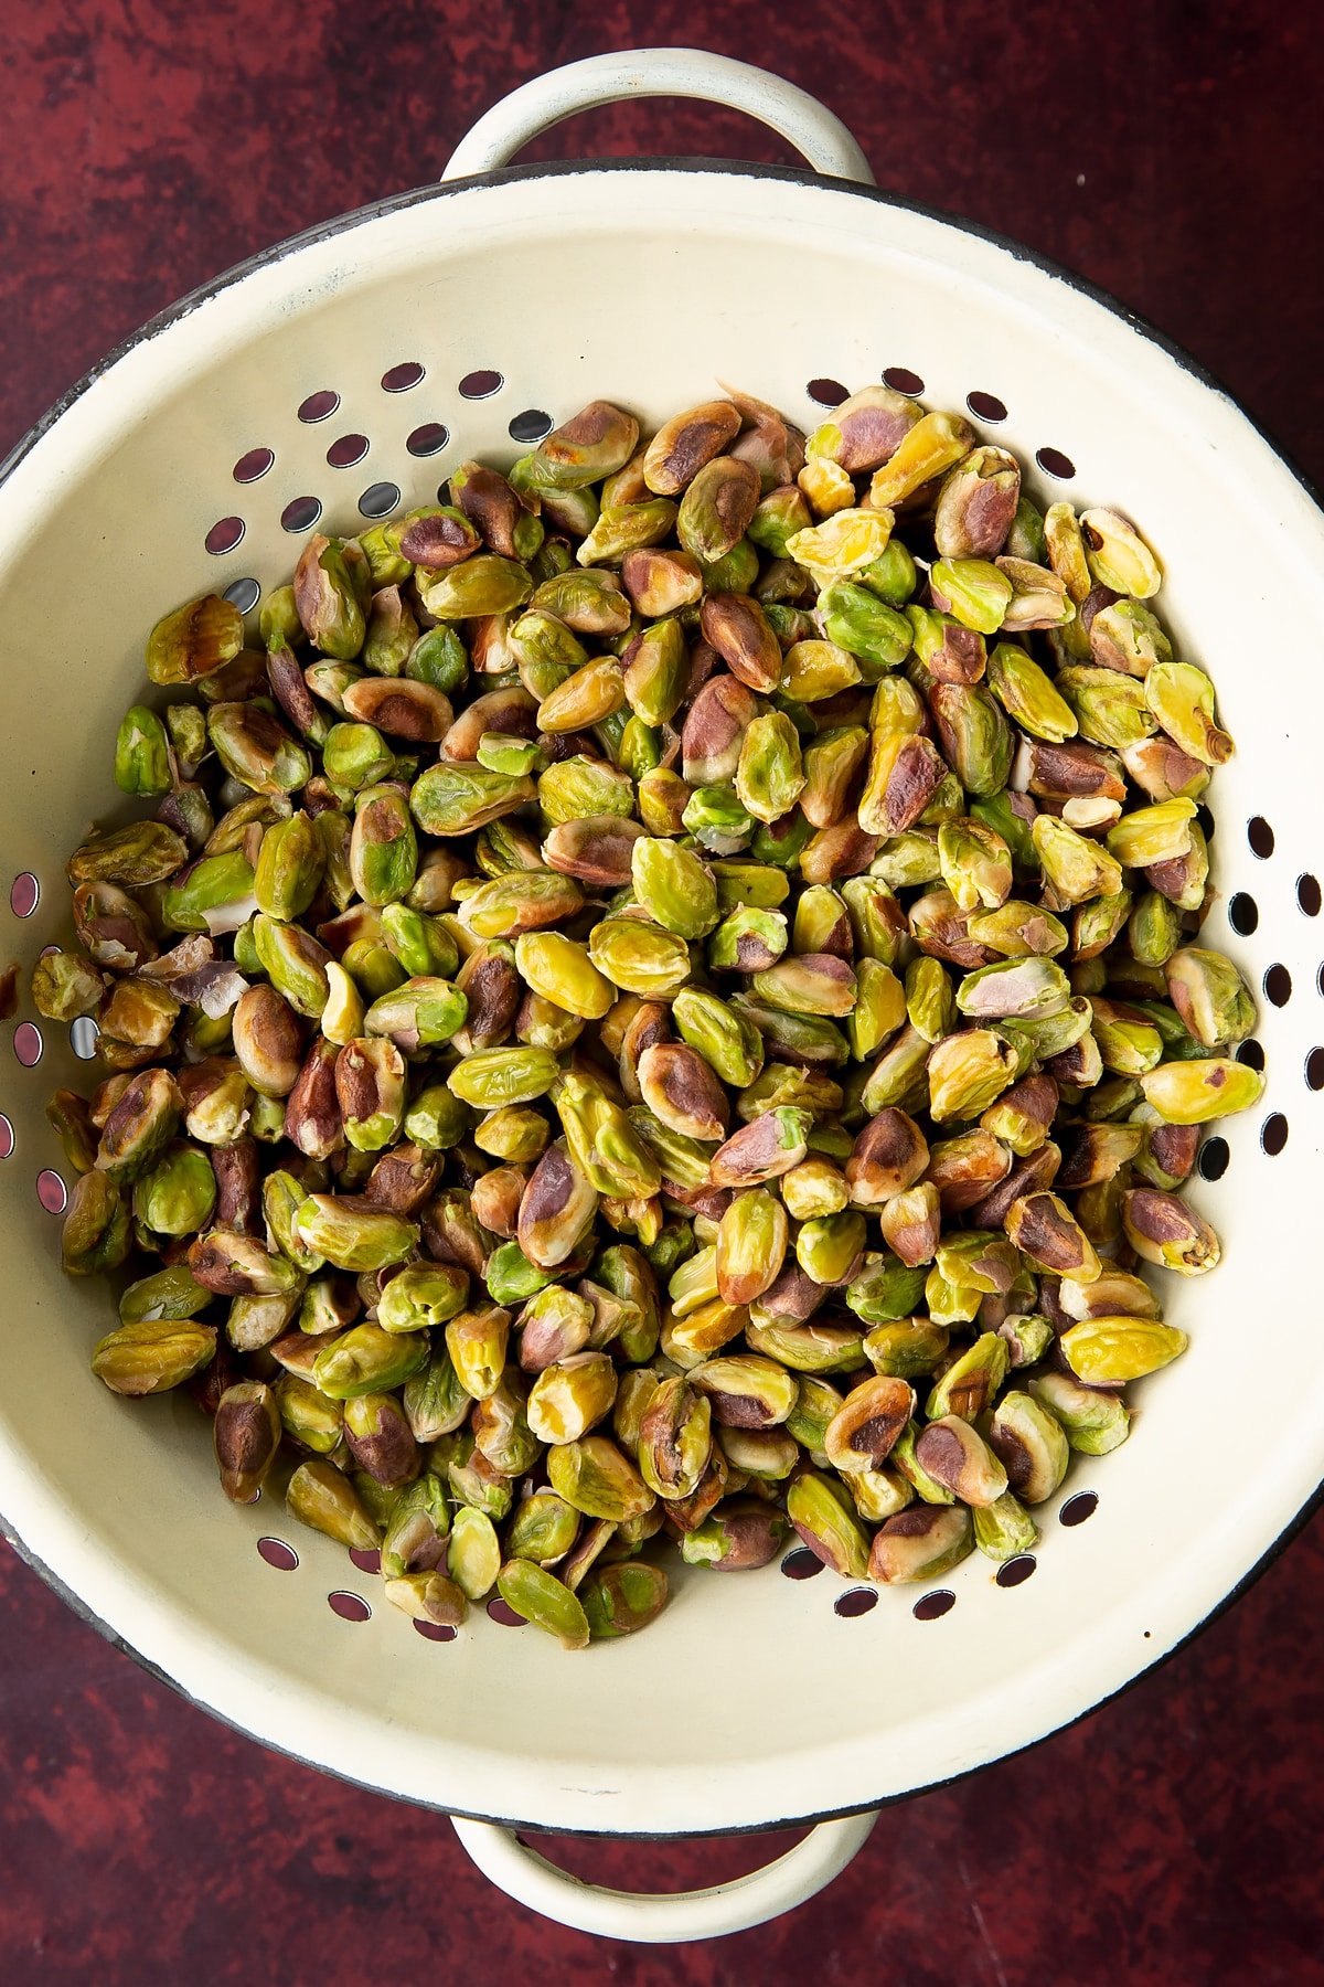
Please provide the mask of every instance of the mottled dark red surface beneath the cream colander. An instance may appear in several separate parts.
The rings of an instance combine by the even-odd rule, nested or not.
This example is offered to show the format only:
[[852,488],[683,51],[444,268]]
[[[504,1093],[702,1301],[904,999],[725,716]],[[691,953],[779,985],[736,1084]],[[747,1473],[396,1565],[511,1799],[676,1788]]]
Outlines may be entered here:
[[[828,101],[883,185],[1114,290],[1324,481],[1324,10],[1308,0],[4,0],[0,26],[0,451],[183,290],[435,177],[524,77],[697,42]],[[576,119],[536,155],[586,151],[790,159],[689,103]],[[1235,582],[1235,517],[1227,538]],[[1272,1441],[1270,1381],[1253,1425],[1229,1421],[1229,1468]],[[1324,1981],[1322,1570],[1316,1520],[1120,1703],[891,1808],[850,1874],[782,1923],[669,1955],[542,1925],[478,1878],[447,1822],[214,1725],[0,1548],[0,1973],[335,1987],[574,1967],[653,1987],[881,1967],[901,1987],[1308,1987]],[[691,1687],[738,1677],[697,1661]],[[830,1677],[788,1663],[786,1689],[820,1691],[832,1717]],[[681,1888],[760,1856],[580,1844],[566,1860]]]

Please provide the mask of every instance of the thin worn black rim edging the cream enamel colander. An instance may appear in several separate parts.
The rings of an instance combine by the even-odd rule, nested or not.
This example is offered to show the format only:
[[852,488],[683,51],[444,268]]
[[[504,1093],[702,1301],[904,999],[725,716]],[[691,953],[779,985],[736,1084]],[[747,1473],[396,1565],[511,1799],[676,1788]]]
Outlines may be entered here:
[[[391,195],[389,199],[373,201],[367,207],[357,207],[353,209],[353,213],[337,215],[333,221],[318,223],[316,227],[306,229],[300,234],[292,234],[286,240],[276,242],[272,248],[264,248],[258,254],[252,254],[246,260],[236,262],[220,276],[214,276],[210,282],[200,284],[197,290],[191,290],[175,304],[169,304],[165,310],[157,312],[155,318],[149,318],[147,324],[143,324],[137,332],[121,340],[103,360],[91,366],[83,374],[83,378],[77,380],[75,385],[71,385],[66,393],[62,393],[60,399],[56,399],[52,407],[48,407],[48,411],[14,445],[14,449],[10,449],[10,453],[0,463],[0,483],[6,483],[10,479],[14,469],[18,469],[18,465],[32,453],[32,449],[42,441],[42,437],[50,433],[56,421],[64,413],[67,413],[67,409],[73,407],[75,401],[79,401],[83,393],[87,393],[87,389],[95,385],[95,382],[101,380],[107,372],[111,372],[111,368],[117,366],[119,360],[123,360],[129,352],[135,352],[139,346],[157,338],[161,332],[171,330],[171,326],[179,324],[183,318],[193,316],[195,310],[200,310],[212,298],[220,296],[224,290],[230,290],[246,276],[252,276],[258,270],[268,268],[272,264],[284,262],[288,256],[298,254],[302,248],[310,248],[318,242],[331,240],[337,234],[345,234],[351,229],[361,227],[363,223],[369,221],[377,221],[385,215],[395,215],[409,207],[421,207],[427,201],[443,201],[455,193],[470,193],[476,187],[502,187],[508,185],[510,181],[522,181],[522,179],[572,179],[586,173],[641,173],[641,171],[709,173],[717,177],[776,179],[776,181],[812,185],[834,193],[850,193],[856,199],[871,201],[879,207],[895,207],[899,213],[917,215],[923,221],[935,221],[941,227],[953,229],[959,234],[969,234],[975,240],[989,242],[993,248],[1000,248],[1006,254],[1010,254],[1012,260],[1030,264],[1032,268],[1042,270],[1042,274],[1052,276],[1058,282],[1064,282],[1070,290],[1076,290],[1080,296],[1104,308],[1112,318],[1118,318],[1147,344],[1157,346],[1157,350],[1163,352],[1169,360],[1173,360],[1173,364],[1181,372],[1189,374],[1201,385],[1209,387],[1223,401],[1227,401],[1241,415],[1247,427],[1251,427],[1253,433],[1258,435],[1258,439],[1268,447],[1268,451],[1278,459],[1278,463],[1282,463],[1282,467],[1300,485],[1300,489],[1316,505],[1316,509],[1322,509],[1320,493],[1316,491],[1310,477],[1298,467],[1298,463],[1278,443],[1278,439],[1270,435],[1268,429],[1260,425],[1260,421],[1257,421],[1251,413],[1247,413],[1237,395],[1213,372],[1209,372],[1207,366],[1191,358],[1191,354],[1183,346],[1171,340],[1165,332],[1157,330],[1157,326],[1153,326],[1139,312],[1127,308],[1125,304],[1120,304],[1118,298],[1110,296],[1108,290],[1102,290],[1088,278],[1078,276],[1070,268],[1064,268],[1062,262],[1054,262],[1050,256],[1044,256],[1034,248],[1026,248],[1024,242],[1016,242],[1006,234],[998,234],[996,229],[989,229],[979,221],[967,221],[961,215],[953,215],[941,207],[929,207],[923,201],[909,201],[903,195],[885,191],[883,187],[865,187],[860,181],[834,179],[830,175],[808,173],[798,167],[752,165],[748,161],[736,161],[736,159],[570,159],[552,165],[514,165],[514,167],[502,167],[500,171],[494,173],[474,173],[468,179],[449,179],[427,187],[415,187],[409,193],[397,193]],[[87,1602],[81,1600],[81,1596],[77,1596],[71,1588],[67,1588],[64,1580],[60,1580],[60,1576],[38,1558],[36,1552],[30,1550],[30,1546],[18,1536],[18,1532],[12,1528],[12,1524],[8,1524],[4,1516],[0,1516],[0,1536],[4,1536],[18,1554],[18,1558],[24,1560],[24,1564],[30,1566],[38,1574],[38,1578],[44,1580],[46,1586],[54,1594],[58,1594],[60,1600],[75,1615],[87,1621],[89,1627],[93,1627],[105,1641],[109,1641],[111,1647],[119,1649],[123,1655],[129,1655],[151,1677],[155,1677],[159,1683],[165,1683],[171,1691],[175,1691],[177,1697],[183,1697],[187,1703],[202,1711],[206,1717],[216,1719],[230,1731],[240,1733],[254,1745],[266,1747],[272,1753],[282,1755],[284,1758],[298,1760],[304,1766],[312,1766],[318,1772],[330,1774],[330,1778],[333,1780],[341,1780],[347,1786],[357,1786],[369,1794],[379,1794],[385,1800],[401,1800],[407,1806],[417,1806],[437,1814],[461,1814],[468,1820],[492,1822],[502,1828],[518,1830],[520,1834],[530,1834],[530,1836],[572,1834],[584,1840],[609,1840],[609,1842],[685,1842],[691,1838],[703,1840],[705,1836],[758,1836],[786,1828],[808,1828],[818,1822],[844,1820],[846,1816],[852,1814],[867,1814],[873,1808],[891,1808],[897,1806],[899,1802],[917,1800],[923,1794],[937,1792],[939,1788],[957,1786],[961,1780],[969,1780],[973,1778],[973,1774],[985,1772],[985,1768],[996,1766],[1000,1760],[1016,1758],[1024,1753],[1034,1751],[1040,1745],[1046,1745],[1048,1739],[1056,1739],[1058,1733],[1070,1731],[1084,1719],[1094,1717],[1096,1711],[1102,1711],[1106,1705],[1116,1703],[1127,1691],[1135,1689],[1135,1685],[1141,1683],[1145,1677],[1151,1677],[1155,1671],[1163,1669],[1173,1657],[1181,1655],[1181,1651],[1187,1649],[1197,1635],[1203,1635],[1203,1631],[1211,1627],[1211,1623],[1215,1623],[1223,1613],[1227,1613],[1227,1609],[1233,1607],[1243,1598],[1243,1594],[1247,1594],[1257,1584],[1257,1580],[1260,1580],[1264,1572],[1268,1572],[1274,1560],[1278,1560],[1278,1556],[1286,1552],[1296,1534],[1308,1524],[1308,1520],[1314,1516],[1314,1512],[1320,1508],[1322,1502],[1324,1502],[1324,1482],[1316,1486],[1316,1490],[1306,1498],[1296,1516],[1282,1528],[1282,1532],[1272,1540],[1272,1544],[1264,1550],[1264,1554],[1257,1560],[1257,1564],[1237,1582],[1237,1586],[1231,1588],[1231,1592],[1225,1594],[1225,1598],[1215,1607],[1211,1607],[1207,1615],[1203,1615],[1191,1629],[1187,1629],[1187,1633],[1181,1635],[1179,1641],[1171,1645],[1171,1649],[1161,1649],[1159,1653],[1143,1661],[1141,1667],[1135,1669],[1125,1679],[1125,1683],[1120,1683],[1116,1691],[1106,1691],[1102,1697],[1096,1697],[1094,1703],[1084,1705],[1078,1713],[1074,1713],[1074,1717],[1062,1719],[1060,1723],[1052,1725],[1038,1737],[1026,1739],[1022,1745],[1008,1747],[1002,1753],[994,1753],[991,1758],[985,1758],[975,1766],[961,1768],[961,1772],[947,1774],[945,1778],[927,1780],[923,1786],[905,1788],[903,1792],[897,1794],[881,1794],[873,1800],[861,1800],[848,1808],[824,1808],[814,1814],[786,1814],[768,1822],[748,1822],[744,1826],[734,1826],[734,1828],[699,1826],[699,1828],[669,1830],[665,1834],[619,1830],[619,1828],[570,1830],[552,1824],[524,1822],[516,1816],[478,1814],[470,1808],[457,1808],[453,1804],[429,1802],[413,1794],[397,1794],[391,1788],[379,1786],[375,1780],[361,1780],[355,1774],[343,1772],[337,1766],[328,1766],[318,1758],[310,1758],[296,1747],[280,1745],[274,1739],[258,1737],[246,1725],[238,1723],[236,1719],[230,1719],[224,1711],[218,1711],[204,1699],[195,1697],[177,1677],[171,1677],[167,1669],[163,1669],[149,1655],[137,1649],[117,1629],[113,1629],[99,1613],[95,1613],[95,1609],[87,1605]]]

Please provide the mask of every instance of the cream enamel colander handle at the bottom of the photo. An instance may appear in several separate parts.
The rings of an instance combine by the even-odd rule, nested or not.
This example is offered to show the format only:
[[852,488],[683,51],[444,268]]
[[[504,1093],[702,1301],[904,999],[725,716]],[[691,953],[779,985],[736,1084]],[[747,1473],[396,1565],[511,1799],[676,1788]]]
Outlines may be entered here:
[[877,1812],[820,1822],[804,1842],[796,1842],[794,1850],[732,1884],[683,1890],[673,1896],[641,1896],[584,1884],[520,1842],[512,1828],[453,1816],[461,1846],[508,1898],[558,1925],[594,1931],[607,1939],[633,1939],[641,1945],[721,1939],[728,1931],[746,1931],[750,1925],[780,1917],[840,1876],[869,1840],[875,1820]]

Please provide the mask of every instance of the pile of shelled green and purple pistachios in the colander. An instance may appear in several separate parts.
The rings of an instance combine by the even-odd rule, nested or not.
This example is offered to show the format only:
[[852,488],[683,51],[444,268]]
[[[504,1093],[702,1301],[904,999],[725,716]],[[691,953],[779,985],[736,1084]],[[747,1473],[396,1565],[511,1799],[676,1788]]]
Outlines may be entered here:
[[93,1371],[457,1625],[643,1627],[657,1550],[1036,1542],[1185,1333],[1253,1105],[1199,944],[1233,745],[1120,513],[885,385],[594,401],[147,642],[50,1105]]

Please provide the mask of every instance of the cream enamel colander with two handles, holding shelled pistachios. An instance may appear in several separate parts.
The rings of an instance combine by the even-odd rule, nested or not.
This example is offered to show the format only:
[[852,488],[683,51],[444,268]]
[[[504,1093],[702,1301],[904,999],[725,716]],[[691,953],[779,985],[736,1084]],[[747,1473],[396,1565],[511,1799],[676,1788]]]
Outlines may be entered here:
[[[752,111],[822,175],[713,161],[496,171],[619,95]],[[0,1510],[105,1631],[268,1745],[478,1820],[470,1854],[568,1923],[671,1939],[824,1884],[879,1802],[1024,1747],[1159,1661],[1294,1524],[1324,1458],[1302,1274],[1320,1232],[1324,1003],[1316,803],[1324,533],[1310,495],[1181,354],[981,229],[873,189],[850,135],[776,77],[687,50],[576,64],[490,111],[443,185],[232,270],[97,368],[0,483],[2,956],[66,934],[64,858],[111,811],[109,743],[143,638],[206,588],[282,582],[318,519],[433,501],[605,395],[657,421],[736,382],[814,425],[887,374],[1038,463],[1040,501],[1116,503],[1167,566],[1163,612],[1213,674],[1239,753],[1213,789],[1207,934],[1260,995],[1262,1105],[1203,1148],[1223,1268],[1163,1292],[1189,1353],[1131,1441],[1076,1458],[1034,1578],[975,1556],[939,1592],[681,1574],[647,1633],[564,1655],[478,1617],[413,1633],[331,1542],[232,1508],[187,1399],[87,1375],[105,1290],[58,1262],[42,1105],[91,1045],[22,995],[0,1043]],[[840,382],[840,385],[838,385]],[[77,1033],[77,1023],[75,1031]],[[1247,1047],[1243,1053],[1257,1053]],[[1070,1522],[1088,1518],[1088,1524]],[[786,1572],[804,1572],[790,1556]],[[877,1602],[877,1605],[869,1605]],[[721,1892],[613,1898],[506,1830],[675,1836],[832,1818]],[[842,1818],[846,1816],[846,1818]],[[506,1830],[482,1826],[506,1824]]]

